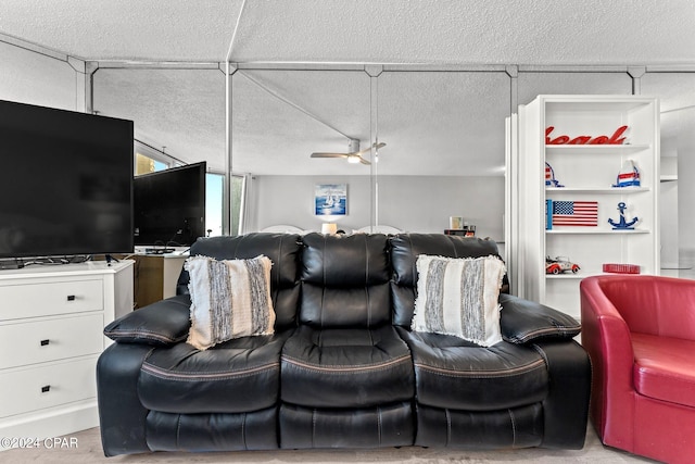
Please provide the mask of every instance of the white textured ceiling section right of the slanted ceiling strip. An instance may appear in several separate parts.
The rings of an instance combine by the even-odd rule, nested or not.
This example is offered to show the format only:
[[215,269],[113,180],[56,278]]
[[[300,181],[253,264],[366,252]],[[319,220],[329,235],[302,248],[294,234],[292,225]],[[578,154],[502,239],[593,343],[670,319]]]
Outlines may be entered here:
[[686,43],[694,43],[694,21],[691,0],[249,1],[232,57],[241,62],[692,62],[695,50]]

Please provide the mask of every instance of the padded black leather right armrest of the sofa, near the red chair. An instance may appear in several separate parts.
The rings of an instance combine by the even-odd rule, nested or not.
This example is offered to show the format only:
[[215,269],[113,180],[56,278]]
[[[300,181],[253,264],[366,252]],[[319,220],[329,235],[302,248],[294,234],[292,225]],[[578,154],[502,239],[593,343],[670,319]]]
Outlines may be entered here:
[[523,344],[539,339],[571,339],[581,331],[572,316],[511,294],[500,294],[502,338]]

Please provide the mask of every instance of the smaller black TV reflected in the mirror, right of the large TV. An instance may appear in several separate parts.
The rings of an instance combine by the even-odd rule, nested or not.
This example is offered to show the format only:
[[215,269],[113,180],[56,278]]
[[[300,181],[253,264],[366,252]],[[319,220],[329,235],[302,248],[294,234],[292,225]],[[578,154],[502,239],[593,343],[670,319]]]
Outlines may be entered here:
[[135,244],[189,247],[205,236],[205,162],[136,176]]

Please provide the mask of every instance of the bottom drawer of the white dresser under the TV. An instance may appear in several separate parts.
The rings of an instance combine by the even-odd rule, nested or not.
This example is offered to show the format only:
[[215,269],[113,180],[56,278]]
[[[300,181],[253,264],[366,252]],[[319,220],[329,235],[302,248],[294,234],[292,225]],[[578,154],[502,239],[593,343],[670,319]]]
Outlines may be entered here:
[[97,356],[0,373],[0,417],[97,397]]

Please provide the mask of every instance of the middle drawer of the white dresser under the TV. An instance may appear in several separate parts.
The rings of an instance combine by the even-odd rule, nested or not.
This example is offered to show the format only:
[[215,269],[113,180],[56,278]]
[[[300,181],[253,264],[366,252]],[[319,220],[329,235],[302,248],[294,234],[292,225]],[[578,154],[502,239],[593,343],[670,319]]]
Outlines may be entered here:
[[99,313],[0,325],[0,368],[98,354],[103,321]]

